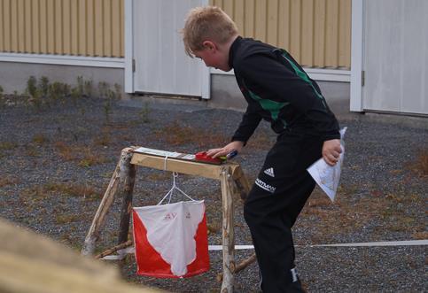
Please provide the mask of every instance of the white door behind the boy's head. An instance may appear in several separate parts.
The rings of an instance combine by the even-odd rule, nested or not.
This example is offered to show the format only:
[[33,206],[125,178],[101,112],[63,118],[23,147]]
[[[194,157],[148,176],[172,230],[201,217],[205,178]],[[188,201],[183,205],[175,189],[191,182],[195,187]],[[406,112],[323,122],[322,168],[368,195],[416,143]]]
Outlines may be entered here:
[[203,96],[203,83],[209,78],[209,72],[200,60],[184,53],[180,29],[189,10],[206,1],[136,0],[133,3],[134,90]]

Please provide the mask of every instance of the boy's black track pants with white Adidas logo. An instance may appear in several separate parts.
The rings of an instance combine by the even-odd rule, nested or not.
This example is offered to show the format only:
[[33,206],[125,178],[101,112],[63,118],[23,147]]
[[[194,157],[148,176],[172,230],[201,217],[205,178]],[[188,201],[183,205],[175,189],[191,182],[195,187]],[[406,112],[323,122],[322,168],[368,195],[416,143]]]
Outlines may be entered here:
[[292,225],[315,188],[306,169],[322,157],[322,147],[317,137],[280,135],[245,201],[263,292],[302,292],[294,269]]

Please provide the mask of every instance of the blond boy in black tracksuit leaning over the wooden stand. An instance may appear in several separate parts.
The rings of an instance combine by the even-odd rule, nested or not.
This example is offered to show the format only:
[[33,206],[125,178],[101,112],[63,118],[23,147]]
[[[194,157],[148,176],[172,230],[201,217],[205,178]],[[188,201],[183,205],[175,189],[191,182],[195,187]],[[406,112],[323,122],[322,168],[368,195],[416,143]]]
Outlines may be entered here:
[[191,57],[223,71],[234,69],[248,107],[232,142],[208,150],[213,158],[242,150],[261,119],[278,134],[244,205],[264,292],[301,292],[294,265],[292,225],[315,188],[306,169],[320,157],[339,160],[339,123],[315,81],[286,52],[245,39],[220,8],[189,13],[183,42]]

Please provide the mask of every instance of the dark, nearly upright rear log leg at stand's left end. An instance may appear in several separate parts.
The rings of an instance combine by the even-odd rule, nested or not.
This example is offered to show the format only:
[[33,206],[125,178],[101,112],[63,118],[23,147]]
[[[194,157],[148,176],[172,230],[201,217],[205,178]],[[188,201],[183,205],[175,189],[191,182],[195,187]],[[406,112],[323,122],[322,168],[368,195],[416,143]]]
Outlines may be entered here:
[[[132,157],[132,153],[131,153]],[[129,221],[132,211],[132,193],[134,191],[134,183],[136,181],[136,166],[131,165],[130,158],[121,169],[121,183],[123,189],[121,191],[122,207],[121,207],[121,224],[119,225],[118,244],[128,241]]]

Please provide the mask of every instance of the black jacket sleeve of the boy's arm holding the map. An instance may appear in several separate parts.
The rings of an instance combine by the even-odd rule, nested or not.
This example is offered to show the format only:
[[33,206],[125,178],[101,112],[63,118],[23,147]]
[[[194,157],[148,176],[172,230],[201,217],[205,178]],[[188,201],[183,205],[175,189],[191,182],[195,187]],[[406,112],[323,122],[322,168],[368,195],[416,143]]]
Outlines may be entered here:
[[315,81],[310,80],[297,63],[285,66],[288,61],[279,58],[283,57],[275,52],[246,56],[239,65],[239,72],[245,81],[271,93],[269,99],[292,104],[306,116],[324,141],[340,138],[339,123]]

